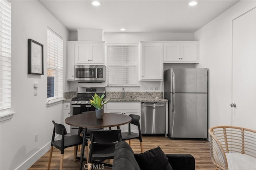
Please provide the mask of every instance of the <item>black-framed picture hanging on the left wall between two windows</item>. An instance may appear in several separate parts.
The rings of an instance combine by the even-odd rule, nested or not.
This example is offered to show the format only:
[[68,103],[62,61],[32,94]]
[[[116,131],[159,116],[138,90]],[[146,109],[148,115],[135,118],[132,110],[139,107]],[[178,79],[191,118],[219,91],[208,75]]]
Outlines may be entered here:
[[28,74],[44,75],[44,45],[28,39]]

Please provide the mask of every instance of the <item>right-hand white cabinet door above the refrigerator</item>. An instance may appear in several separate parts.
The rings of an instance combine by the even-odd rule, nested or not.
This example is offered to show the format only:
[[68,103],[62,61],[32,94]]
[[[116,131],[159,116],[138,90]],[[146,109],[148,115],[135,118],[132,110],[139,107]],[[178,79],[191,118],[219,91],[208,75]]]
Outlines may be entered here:
[[198,59],[198,43],[185,43],[180,45],[181,62],[196,62]]

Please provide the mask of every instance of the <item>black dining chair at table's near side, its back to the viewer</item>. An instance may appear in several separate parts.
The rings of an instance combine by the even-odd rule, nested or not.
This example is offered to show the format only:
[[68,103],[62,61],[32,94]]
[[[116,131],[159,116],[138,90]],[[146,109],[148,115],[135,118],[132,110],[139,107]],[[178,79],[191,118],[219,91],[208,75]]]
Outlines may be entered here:
[[[114,158],[115,145],[122,141],[121,130],[91,131],[90,141],[88,167],[93,160]],[[100,163],[100,161],[97,163]],[[104,165],[112,167],[111,164],[104,163]]]

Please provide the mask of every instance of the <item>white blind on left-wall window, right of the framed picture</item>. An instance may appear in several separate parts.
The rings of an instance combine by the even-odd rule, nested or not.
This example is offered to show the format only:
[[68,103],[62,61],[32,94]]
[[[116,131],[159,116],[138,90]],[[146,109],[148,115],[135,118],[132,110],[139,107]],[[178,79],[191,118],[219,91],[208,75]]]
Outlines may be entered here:
[[47,29],[47,101],[63,98],[63,40]]

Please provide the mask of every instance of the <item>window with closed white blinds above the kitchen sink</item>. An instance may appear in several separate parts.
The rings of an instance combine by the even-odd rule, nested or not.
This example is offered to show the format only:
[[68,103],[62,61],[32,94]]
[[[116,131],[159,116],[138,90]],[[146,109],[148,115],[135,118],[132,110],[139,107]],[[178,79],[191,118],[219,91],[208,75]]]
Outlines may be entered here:
[[138,45],[107,45],[108,86],[138,86]]

